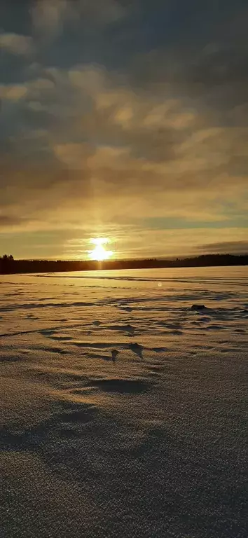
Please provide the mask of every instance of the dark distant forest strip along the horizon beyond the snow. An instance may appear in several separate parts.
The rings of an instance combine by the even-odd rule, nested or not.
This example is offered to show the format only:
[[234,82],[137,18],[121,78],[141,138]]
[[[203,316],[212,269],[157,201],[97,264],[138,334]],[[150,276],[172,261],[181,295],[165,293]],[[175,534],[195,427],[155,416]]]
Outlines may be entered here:
[[203,254],[195,258],[164,260],[158,258],[111,261],[62,261],[62,260],[15,260],[12,255],[0,257],[0,274],[14,273],[60,273],[64,271],[92,271],[111,269],[149,269],[173,267],[218,267],[223,265],[248,265],[248,254]]

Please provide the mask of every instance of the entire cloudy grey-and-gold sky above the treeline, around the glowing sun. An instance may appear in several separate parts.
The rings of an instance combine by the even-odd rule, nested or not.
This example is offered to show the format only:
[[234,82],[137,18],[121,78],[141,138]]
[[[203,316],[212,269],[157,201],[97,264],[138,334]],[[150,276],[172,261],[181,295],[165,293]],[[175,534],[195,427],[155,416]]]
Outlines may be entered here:
[[248,253],[247,0],[1,0],[0,254]]

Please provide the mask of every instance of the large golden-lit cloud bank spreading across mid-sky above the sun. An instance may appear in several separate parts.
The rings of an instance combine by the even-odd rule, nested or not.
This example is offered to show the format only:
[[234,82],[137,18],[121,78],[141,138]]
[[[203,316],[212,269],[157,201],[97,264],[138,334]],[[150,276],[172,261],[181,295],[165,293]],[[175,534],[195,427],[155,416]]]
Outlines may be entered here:
[[[83,208],[104,221],[156,214],[214,221],[228,218],[230,200],[237,212],[244,204],[247,128],[213,127],[184,99],[123,87],[94,65],[43,69],[22,88],[21,124],[12,118],[8,139],[15,164],[3,160],[20,205],[39,193],[41,209],[53,215],[55,203],[63,212],[67,205],[68,218],[80,219]],[[28,210],[38,211],[32,202]]]

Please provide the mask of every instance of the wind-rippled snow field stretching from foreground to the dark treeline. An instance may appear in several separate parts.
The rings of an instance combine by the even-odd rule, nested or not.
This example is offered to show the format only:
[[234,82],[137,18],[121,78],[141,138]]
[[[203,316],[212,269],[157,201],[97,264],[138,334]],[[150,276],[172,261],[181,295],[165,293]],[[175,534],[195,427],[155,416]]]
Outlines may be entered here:
[[0,277],[1,536],[246,536],[247,284]]

